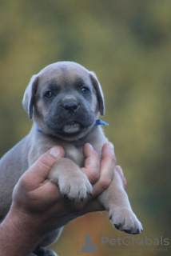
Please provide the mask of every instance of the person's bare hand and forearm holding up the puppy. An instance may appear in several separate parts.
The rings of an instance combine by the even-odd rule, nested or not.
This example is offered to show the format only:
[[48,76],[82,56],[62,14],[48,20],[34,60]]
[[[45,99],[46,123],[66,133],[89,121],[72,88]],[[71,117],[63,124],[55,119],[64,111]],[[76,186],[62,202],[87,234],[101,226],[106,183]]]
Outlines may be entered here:
[[[88,212],[104,210],[96,197],[108,188],[113,178],[116,161],[113,145],[105,143],[101,161],[88,143],[83,152],[85,167],[82,171],[93,185],[93,195],[85,202],[62,198],[58,186],[47,179],[51,168],[65,154],[61,146],[54,146],[38,158],[14,187],[10,211],[0,226],[0,255],[34,256],[31,251],[46,233],[66,225],[68,219],[71,221]],[[116,167],[125,186],[121,167]]]

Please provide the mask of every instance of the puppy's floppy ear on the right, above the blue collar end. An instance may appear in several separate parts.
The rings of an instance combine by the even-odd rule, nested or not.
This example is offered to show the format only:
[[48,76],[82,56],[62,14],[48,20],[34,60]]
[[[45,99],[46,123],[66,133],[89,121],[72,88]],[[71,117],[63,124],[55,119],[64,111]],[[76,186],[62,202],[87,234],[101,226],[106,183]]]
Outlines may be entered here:
[[98,101],[98,110],[101,115],[105,114],[105,100],[103,96],[103,92],[101,90],[100,82],[98,82],[97,76],[93,71],[89,72],[91,81],[93,82],[93,87],[97,91],[97,101]]

